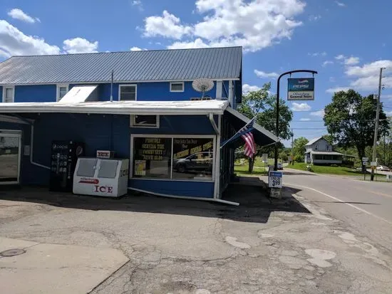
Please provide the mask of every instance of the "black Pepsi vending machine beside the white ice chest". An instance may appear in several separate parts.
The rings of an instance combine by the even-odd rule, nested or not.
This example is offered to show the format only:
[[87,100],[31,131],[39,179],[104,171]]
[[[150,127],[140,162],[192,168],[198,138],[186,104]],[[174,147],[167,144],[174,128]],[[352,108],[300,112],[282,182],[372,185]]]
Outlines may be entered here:
[[73,172],[78,157],[84,156],[84,143],[75,141],[53,141],[51,152],[51,191],[71,192]]

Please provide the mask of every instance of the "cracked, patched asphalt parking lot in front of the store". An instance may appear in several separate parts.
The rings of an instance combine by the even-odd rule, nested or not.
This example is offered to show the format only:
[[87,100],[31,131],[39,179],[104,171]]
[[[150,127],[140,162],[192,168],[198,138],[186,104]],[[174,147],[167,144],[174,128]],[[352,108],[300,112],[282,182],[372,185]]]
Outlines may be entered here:
[[[259,187],[237,185],[226,197],[241,205],[0,191],[0,240],[122,253],[127,261],[118,263],[118,271],[108,267],[113,274],[106,271],[91,287],[96,294],[390,293],[390,252],[310,204],[300,190],[286,189],[282,200],[269,203]],[[0,258],[1,285],[3,273],[11,271],[5,261]],[[62,278],[62,262],[52,280],[55,273]],[[15,256],[13,267],[19,263]],[[85,269],[86,277],[95,271]],[[7,277],[29,279],[23,271]],[[69,279],[65,284],[73,283]]]

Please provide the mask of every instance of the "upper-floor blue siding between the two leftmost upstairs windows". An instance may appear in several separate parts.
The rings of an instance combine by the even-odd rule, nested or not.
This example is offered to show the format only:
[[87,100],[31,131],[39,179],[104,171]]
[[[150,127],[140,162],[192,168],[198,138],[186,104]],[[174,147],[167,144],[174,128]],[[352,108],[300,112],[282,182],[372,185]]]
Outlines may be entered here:
[[56,85],[16,85],[15,102],[56,102]]

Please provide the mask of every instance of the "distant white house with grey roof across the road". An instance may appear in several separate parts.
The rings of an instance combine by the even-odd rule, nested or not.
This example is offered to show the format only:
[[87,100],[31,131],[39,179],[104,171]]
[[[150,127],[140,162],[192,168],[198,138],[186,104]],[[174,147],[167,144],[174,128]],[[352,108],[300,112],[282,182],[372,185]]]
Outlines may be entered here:
[[311,164],[342,164],[344,154],[335,152],[324,137],[314,138],[305,145],[305,162]]

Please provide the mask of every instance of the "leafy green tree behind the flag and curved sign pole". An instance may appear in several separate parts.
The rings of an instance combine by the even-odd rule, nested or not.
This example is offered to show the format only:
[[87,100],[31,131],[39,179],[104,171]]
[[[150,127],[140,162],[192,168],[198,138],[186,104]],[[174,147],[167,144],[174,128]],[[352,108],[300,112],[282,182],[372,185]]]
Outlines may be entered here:
[[[264,127],[270,132],[275,132],[275,120],[277,117],[276,95],[271,95],[271,83],[265,83],[261,89],[250,91],[242,95],[242,103],[238,111],[248,118],[256,117],[257,124]],[[292,121],[293,112],[282,99],[279,100],[279,137],[285,140],[290,138],[290,122]],[[283,147],[283,145],[281,145]],[[261,146],[260,146],[261,147]],[[274,146],[258,148],[256,156],[261,153],[269,153]],[[253,170],[253,159],[249,159],[249,172]]]

